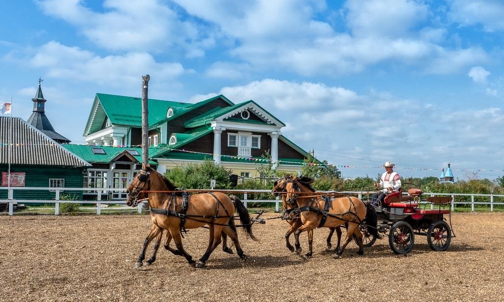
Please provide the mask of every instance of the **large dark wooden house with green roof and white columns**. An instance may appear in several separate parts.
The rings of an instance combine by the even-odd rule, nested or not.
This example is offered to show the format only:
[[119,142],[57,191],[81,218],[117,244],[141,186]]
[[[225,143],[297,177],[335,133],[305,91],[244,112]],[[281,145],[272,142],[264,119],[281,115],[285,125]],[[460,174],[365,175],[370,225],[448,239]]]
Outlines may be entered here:
[[[149,99],[148,111],[149,159],[161,173],[213,159],[234,174],[257,177],[266,152],[278,169],[291,172],[299,171],[308,155],[282,135],[282,121],[251,100],[234,104],[223,95],[195,104]],[[84,136],[86,148],[134,148],[141,153],[141,98],[96,94]],[[132,167],[128,179],[136,171]]]

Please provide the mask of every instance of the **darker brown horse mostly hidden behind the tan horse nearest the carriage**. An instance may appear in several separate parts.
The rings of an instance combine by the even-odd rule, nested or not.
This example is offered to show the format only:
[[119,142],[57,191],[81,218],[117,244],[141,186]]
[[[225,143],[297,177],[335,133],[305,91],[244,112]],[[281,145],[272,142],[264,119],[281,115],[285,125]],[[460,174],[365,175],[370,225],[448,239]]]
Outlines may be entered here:
[[[282,219],[286,220],[290,224],[289,230],[287,231],[287,233],[285,233],[285,242],[286,242],[287,249],[289,249],[289,251],[291,251],[291,252],[295,251],[297,254],[300,254],[301,253],[301,245],[299,244],[299,236],[294,234],[294,238],[295,238],[294,245],[295,245],[296,249],[294,249],[294,247],[290,244],[290,241],[289,241],[290,235],[292,233],[296,232],[297,229],[299,229],[299,227],[302,225],[301,220],[298,217],[299,207],[297,207],[297,205],[295,205],[293,203],[288,203],[286,201],[286,195],[282,194],[282,193],[285,193],[285,187],[287,185],[287,182],[289,182],[291,179],[292,179],[292,175],[286,174],[282,178],[280,178],[279,180],[275,181],[273,184],[273,189],[271,190],[271,193],[275,197],[277,197],[280,194],[282,195],[282,204],[283,204],[283,208],[285,209],[285,213],[284,213],[284,216],[282,217]],[[329,235],[327,236],[327,240],[326,240],[327,251],[331,251],[331,248],[332,248],[331,239],[333,237],[334,231],[336,231],[336,235],[338,237],[338,245],[336,246],[335,250],[339,250],[340,243],[341,243],[341,229],[338,227],[338,228],[329,228],[329,230],[330,230]],[[305,256],[310,257],[311,255],[312,255],[312,251],[309,251]]]

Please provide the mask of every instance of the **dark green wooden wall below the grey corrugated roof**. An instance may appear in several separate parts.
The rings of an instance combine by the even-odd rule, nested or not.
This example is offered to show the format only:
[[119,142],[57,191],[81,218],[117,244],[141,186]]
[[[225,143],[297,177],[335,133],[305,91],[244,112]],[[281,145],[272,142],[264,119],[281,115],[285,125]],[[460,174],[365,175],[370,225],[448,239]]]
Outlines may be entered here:
[[[7,165],[0,165],[0,178],[2,172],[7,172]],[[11,172],[24,172],[25,187],[49,187],[50,178],[65,179],[66,188],[82,188],[83,178],[82,168],[64,168],[56,166],[11,166]],[[0,183],[1,184],[1,183]],[[56,193],[49,190],[16,190],[14,188],[14,199],[34,199],[34,200],[54,200]],[[72,195],[77,200],[82,200],[82,191],[60,192],[61,194]],[[0,190],[0,199],[7,199],[7,190]]]

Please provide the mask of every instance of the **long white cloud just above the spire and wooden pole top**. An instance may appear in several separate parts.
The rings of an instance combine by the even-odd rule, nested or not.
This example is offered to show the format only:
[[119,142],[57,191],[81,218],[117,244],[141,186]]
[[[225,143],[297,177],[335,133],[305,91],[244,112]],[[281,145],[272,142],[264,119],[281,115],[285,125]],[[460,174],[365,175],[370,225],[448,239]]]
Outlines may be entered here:
[[156,81],[163,81],[188,72],[179,63],[158,63],[148,53],[132,52],[101,57],[54,41],[37,48],[30,64],[46,69],[48,77],[114,87],[138,83],[140,76],[145,73],[150,73]]

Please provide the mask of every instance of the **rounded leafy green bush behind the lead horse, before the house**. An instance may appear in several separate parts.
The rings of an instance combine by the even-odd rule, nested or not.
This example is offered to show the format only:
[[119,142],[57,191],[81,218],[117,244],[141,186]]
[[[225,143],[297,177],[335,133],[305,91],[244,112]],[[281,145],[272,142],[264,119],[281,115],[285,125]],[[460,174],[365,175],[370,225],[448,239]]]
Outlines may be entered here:
[[215,189],[229,189],[231,170],[217,165],[213,160],[205,160],[202,164],[187,164],[166,172],[175,186],[185,189],[210,189],[210,180],[215,179]]

